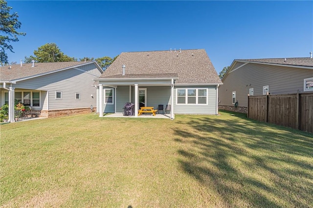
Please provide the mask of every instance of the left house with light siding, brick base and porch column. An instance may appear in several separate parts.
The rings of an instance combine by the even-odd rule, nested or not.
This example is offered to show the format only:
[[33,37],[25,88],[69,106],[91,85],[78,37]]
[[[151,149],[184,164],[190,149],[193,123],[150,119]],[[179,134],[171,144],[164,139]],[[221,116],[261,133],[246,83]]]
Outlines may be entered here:
[[97,103],[93,79],[102,73],[96,62],[1,66],[0,104],[9,104],[9,121],[14,120],[15,101],[31,106],[40,117],[90,111]]

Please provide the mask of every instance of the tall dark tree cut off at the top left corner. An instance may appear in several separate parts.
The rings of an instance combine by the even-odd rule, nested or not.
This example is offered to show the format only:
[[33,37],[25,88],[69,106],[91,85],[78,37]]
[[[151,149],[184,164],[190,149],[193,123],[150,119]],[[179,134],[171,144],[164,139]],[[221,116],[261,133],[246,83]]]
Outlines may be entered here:
[[[8,56],[5,50],[10,50],[12,53],[13,46],[10,45],[10,42],[18,42],[18,35],[25,36],[26,33],[17,32],[16,29],[20,29],[22,23],[18,21],[18,14],[15,12],[10,14],[12,7],[7,5],[5,0],[0,0],[0,62],[2,64],[8,63]],[[3,36],[2,34],[7,34]]]

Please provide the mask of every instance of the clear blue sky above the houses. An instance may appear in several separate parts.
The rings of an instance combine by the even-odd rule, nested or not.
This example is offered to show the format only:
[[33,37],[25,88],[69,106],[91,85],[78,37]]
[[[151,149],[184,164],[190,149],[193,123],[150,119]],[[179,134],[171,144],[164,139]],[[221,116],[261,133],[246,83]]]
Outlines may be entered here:
[[56,43],[70,57],[205,49],[216,71],[234,59],[309,57],[313,1],[15,1],[22,27],[9,62]]

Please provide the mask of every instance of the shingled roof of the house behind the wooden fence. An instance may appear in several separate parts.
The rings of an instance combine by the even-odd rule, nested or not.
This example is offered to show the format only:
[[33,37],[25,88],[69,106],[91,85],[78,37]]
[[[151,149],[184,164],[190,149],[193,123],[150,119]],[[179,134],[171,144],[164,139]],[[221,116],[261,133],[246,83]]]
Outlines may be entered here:
[[280,58],[280,59],[237,59],[235,61],[283,64],[293,66],[313,66],[312,58]]

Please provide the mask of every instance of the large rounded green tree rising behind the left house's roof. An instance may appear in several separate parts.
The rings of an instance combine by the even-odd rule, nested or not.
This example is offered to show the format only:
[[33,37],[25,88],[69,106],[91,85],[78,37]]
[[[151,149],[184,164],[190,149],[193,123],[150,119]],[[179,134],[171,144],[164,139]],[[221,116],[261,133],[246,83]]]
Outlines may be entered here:
[[34,51],[35,56],[25,56],[24,62],[75,62],[76,58],[65,55],[55,43],[46,43]]

